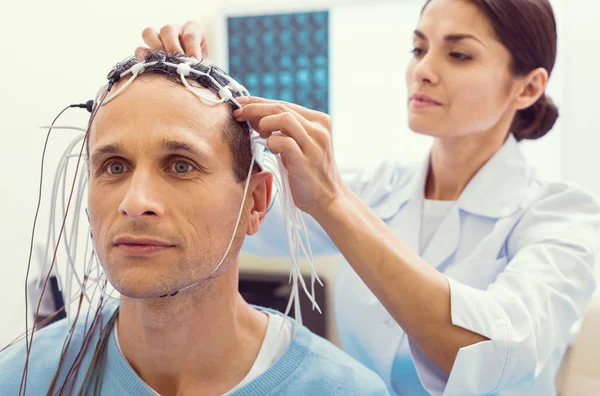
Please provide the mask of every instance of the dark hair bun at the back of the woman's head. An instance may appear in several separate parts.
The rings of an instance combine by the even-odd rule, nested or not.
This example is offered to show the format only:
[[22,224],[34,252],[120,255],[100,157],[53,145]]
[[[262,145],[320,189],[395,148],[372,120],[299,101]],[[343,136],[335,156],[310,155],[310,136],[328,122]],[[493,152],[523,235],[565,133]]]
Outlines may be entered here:
[[531,107],[517,112],[511,131],[517,141],[539,139],[548,133],[558,119],[558,108],[546,94]]

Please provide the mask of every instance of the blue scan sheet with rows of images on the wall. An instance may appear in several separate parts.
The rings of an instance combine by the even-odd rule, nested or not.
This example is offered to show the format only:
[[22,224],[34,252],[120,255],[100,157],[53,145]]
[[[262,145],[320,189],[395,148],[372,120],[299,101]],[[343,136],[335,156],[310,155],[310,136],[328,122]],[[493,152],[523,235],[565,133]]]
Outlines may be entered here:
[[329,113],[329,12],[230,17],[229,73],[250,94]]

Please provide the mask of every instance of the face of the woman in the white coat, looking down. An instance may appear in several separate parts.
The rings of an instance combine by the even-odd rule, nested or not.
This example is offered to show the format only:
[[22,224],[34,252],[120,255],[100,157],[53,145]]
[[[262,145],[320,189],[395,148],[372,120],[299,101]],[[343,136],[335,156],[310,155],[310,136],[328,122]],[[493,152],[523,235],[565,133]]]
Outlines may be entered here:
[[510,52],[468,0],[433,0],[414,33],[409,127],[436,138],[506,134],[516,112]]

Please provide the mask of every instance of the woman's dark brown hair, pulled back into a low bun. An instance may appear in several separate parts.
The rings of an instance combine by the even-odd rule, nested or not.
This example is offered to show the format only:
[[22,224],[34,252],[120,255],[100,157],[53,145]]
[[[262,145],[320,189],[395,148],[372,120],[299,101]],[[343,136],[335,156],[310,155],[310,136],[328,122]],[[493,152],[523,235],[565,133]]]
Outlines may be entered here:
[[[427,0],[425,7],[433,0]],[[512,55],[512,71],[524,76],[543,67],[552,73],[556,61],[556,20],[548,0],[469,0],[492,24],[498,39]],[[423,7],[423,10],[425,10]],[[517,141],[537,139],[548,133],[558,119],[558,109],[543,94],[517,112],[511,132]]]

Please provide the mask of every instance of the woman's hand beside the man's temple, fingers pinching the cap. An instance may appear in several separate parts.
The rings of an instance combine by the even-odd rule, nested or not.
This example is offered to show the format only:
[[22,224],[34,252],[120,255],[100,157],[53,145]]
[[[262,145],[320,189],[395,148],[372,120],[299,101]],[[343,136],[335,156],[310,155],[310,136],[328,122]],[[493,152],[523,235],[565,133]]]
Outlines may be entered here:
[[[296,206],[313,217],[347,192],[333,157],[331,118],[292,103],[238,98],[234,116],[249,121],[267,147],[280,154]],[[281,132],[281,134],[273,134]]]

